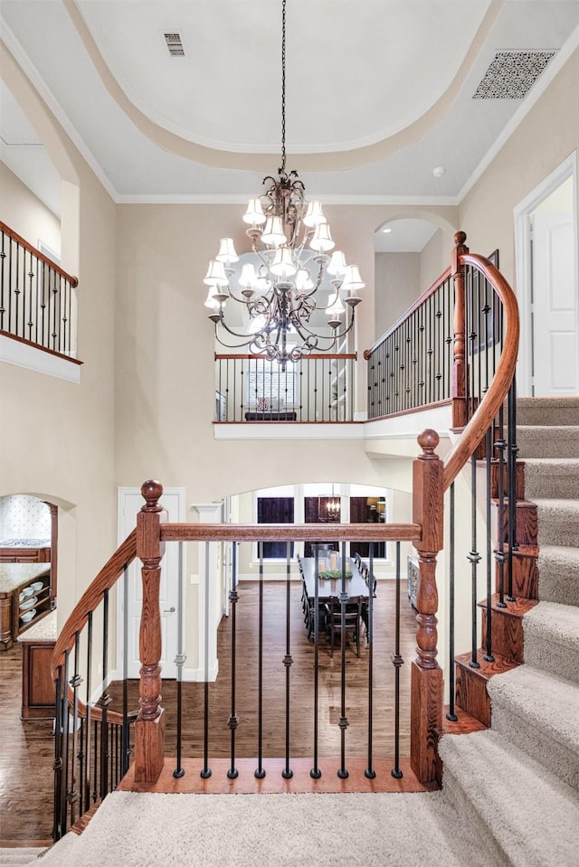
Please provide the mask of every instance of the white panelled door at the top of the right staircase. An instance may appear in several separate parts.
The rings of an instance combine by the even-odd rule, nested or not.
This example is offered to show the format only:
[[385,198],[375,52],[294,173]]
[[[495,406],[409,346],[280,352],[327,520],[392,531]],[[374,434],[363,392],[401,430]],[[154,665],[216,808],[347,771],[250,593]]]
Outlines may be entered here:
[[533,224],[533,385],[536,397],[579,394],[572,213],[536,212]]

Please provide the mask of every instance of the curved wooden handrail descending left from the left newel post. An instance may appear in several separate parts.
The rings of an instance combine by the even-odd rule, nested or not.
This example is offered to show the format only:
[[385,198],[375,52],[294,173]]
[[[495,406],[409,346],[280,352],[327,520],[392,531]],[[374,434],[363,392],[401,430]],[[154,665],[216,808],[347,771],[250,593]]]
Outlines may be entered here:
[[[94,611],[99,603],[105,590],[113,587],[125,569],[137,556],[137,530],[130,532],[119,545],[119,548],[110,557],[109,561],[102,567],[99,574],[92,581],[90,586],[84,591],[77,604],[72,608],[71,614],[62,627],[61,634],[56,640],[51,658],[51,675],[52,680],[56,680],[57,669],[62,664],[62,657],[67,650],[71,650],[74,646],[74,636],[81,631],[89,618],[90,611]],[[69,703],[72,704],[72,689],[68,687]],[[86,717],[86,705],[77,697],[79,716]],[[102,719],[102,709],[98,705],[91,706],[90,718],[100,721]],[[122,723],[123,717],[121,713],[109,711],[107,720],[114,723]]]

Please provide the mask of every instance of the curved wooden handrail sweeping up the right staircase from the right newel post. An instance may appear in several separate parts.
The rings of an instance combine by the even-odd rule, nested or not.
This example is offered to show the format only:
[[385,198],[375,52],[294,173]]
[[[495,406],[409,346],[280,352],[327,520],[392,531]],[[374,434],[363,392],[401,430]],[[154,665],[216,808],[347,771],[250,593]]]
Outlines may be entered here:
[[459,263],[460,265],[473,265],[475,268],[478,268],[481,274],[494,287],[503,303],[507,331],[498,368],[490,383],[489,391],[487,391],[482,401],[480,401],[476,412],[462,431],[460,438],[444,458],[442,479],[445,491],[456,476],[459,475],[460,470],[469,460],[475,448],[478,447],[492,420],[497,415],[499,407],[505,401],[508,389],[515,375],[518,353],[519,324],[517,298],[508,285],[507,280],[489,262],[489,259],[477,256],[475,253],[462,253],[459,257]]

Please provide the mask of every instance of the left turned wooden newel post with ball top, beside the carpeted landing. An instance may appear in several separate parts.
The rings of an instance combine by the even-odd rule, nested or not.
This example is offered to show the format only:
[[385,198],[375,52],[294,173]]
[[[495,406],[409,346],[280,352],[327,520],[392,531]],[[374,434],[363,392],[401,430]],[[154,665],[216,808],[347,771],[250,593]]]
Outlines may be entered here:
[[135,780],[154,783],[163,768],[165,756],[165,710],[161,707],[161,611],[159,587],[161,559],[165,542],[161,542],[161,523],[166,511],[158,504],[163,486],[152,479],[141,486],[146,500],[137,515],[137,556],[143,563],[143,609],[138,637],[140,698],[135,723]]

